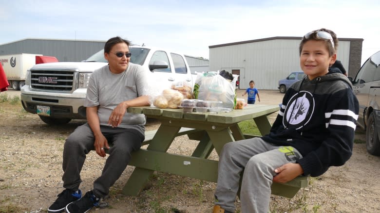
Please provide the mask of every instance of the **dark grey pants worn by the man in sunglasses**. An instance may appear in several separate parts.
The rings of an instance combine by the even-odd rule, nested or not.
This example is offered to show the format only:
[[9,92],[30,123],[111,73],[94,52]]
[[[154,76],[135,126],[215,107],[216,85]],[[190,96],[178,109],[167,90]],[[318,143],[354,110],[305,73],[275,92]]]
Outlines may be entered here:
[[[113,146],[108,150],[109,156],[104,165],[102,174],[94,182],[93,193],[96,197],[105,197],[110,192],[110,187],[120,177],[129,160],[131,152],[138,150],[144,141],[144,135],[133,129],[112,128],[100,126],[100,130],[106,137],[108,144]],[[80,171],[86,159],[86,154],[94,150],[94,133],[86,123],[70,134],[63,148],[63,187],[70,190],[78,190]]]

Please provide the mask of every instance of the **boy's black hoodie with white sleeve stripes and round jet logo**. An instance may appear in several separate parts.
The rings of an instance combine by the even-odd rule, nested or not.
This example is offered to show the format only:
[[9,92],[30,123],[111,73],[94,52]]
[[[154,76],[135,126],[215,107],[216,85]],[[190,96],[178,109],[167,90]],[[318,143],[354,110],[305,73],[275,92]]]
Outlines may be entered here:
[[283,99],[272,129],[263,139],[295,147],[304,175],[322,175],[352,155],[359,103],[352,84],[339,73],[295,82]]

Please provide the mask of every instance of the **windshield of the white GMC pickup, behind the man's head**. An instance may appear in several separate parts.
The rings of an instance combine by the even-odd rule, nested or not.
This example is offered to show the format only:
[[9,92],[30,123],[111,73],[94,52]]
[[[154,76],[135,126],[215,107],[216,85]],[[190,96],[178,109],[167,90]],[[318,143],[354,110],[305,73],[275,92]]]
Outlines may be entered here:
[[[142,47],[130,47],[129,51],[132,53],[131,63],[142,65],[147,57],[149,50],[147,48]],[[90,56],[90,58],[86,59],[84,62],[106,62],[107,60],[104,58],[104,49],[96,52],[94,55]]]

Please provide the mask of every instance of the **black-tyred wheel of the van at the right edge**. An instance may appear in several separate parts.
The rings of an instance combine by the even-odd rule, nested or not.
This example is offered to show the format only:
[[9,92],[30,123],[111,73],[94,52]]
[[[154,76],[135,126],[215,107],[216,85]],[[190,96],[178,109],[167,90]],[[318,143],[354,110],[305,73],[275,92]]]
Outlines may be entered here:
[[368,117],[368,125],[365,131],[367,151],[372,155],[380,155],[380,140],[377,131],[377,121],[374,113]]

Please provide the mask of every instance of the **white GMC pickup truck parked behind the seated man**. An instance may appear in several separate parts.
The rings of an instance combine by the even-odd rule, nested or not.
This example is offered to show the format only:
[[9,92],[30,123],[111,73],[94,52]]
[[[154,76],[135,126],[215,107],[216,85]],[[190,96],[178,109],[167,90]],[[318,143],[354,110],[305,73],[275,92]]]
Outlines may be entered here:
[[[183,54],[153,47],[131,46],[131,62],[144,67],[150,79],[162,85],[173,82],[194,84]],[[38,114],[47,124],[65,124],[71,119],[86,119],[86,98],[91,73],[107,65],[100,50],[83,62],[57,62],[35,65],[27,72],[21,89],[23,108]],[[151,83],[151,82],[150,82]],[[152,82],[153,83],[153,82]],[[148,85],[147,85],[148,86]]]

